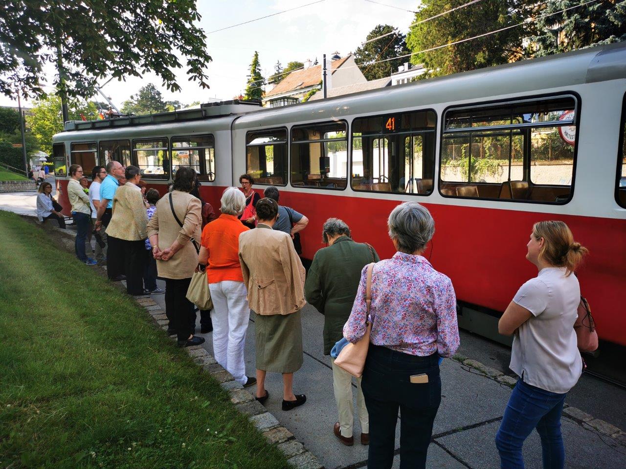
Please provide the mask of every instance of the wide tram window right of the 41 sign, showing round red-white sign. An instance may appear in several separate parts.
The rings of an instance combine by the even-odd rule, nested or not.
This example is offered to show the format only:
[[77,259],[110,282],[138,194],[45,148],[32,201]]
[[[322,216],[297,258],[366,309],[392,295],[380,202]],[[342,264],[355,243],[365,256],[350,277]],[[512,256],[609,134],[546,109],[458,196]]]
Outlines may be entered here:
[[575,161],[575,99],[451,109],[444,116],[444,196],[567,203]]

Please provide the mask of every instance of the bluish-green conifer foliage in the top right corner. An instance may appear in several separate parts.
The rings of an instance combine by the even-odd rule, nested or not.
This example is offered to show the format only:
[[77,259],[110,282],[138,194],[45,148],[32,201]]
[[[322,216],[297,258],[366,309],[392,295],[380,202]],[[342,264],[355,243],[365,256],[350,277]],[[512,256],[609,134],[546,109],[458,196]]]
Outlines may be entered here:
[[531,38],[536,56],[573,51],[598,44],[626,41],[626,0],[590,3],[564,13],[558,12],[583,3],[582,0],[547,0]]

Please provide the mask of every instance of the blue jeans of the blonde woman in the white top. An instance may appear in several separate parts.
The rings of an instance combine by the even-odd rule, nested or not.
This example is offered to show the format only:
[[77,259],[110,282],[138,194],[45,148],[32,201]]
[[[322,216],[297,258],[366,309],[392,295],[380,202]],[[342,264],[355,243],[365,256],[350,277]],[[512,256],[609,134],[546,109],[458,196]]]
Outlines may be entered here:
[[563,469],[565,448],[561,412],[565,394],[551,393],[518,380],[496,435],[501,469],[523,469],[521,446],[533,428],[541,437],[544,469]]

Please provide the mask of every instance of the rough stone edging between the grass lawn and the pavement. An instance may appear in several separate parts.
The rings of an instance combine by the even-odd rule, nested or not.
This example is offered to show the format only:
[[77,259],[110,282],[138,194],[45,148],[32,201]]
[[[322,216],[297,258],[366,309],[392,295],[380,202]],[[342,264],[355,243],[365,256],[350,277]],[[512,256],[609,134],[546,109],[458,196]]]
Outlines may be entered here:
[[[167,316],[156,301],[152,300],[150,295],[135,298],[137,303],[152,316],[153,321],[163,330],[167,330]],[[208,351],[200,345],[187,347],[185,350],[197,365],[228,391],[230,401],[237,410],[248,415],[249,420],[262,432],[265,439],[284,453],[290,465],[297,469],[324,469],[316,456],[312,455],[300,441],[297,441],[293,433],[281,426],[277,418],[265,410],[265,407],[256,401],[254,395],[245,390],[244,386],[235,381],[235,378],[224,370]]]

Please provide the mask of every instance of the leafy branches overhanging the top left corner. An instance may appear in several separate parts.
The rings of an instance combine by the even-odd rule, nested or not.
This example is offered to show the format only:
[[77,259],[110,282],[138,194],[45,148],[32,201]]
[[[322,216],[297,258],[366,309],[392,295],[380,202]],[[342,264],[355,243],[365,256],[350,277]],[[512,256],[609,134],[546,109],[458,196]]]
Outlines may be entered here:
[[[0,92],[41,96],[44,66],[70,97],[92,96],[105,77],[153,71],[179,91],[173,69],[208,88],[211,60],[195,0],[16,0],[0,8]],[[66,88],[65,88],[66,83]]]

